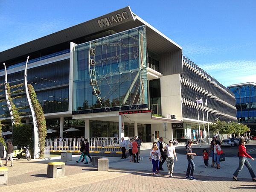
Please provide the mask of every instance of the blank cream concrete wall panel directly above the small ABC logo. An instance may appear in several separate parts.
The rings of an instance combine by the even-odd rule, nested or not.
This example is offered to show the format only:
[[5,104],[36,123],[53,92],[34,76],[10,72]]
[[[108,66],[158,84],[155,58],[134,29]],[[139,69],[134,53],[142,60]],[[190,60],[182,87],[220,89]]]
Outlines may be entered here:
[[176,120],[183,120],[180,92],[180,74],[160,77],[162,115],[175,115]]

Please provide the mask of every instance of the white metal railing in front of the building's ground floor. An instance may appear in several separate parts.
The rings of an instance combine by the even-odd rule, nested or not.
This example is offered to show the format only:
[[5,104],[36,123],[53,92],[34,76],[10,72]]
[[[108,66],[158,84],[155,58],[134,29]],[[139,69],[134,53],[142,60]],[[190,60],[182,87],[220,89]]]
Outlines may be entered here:
[[[84,138],[46,139],[45,146],[50,146],[51,151],[79,152]],[[121,137],[90,137],[88,142],[90,151],[121,151],[119,142]]]

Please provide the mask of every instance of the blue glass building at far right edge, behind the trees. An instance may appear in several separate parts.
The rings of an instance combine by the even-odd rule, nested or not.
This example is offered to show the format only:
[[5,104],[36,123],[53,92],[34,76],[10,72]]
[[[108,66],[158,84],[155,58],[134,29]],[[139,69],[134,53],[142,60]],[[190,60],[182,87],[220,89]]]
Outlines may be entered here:
[[256,136],[256,83],[233,84],[228,88],[236,97],[238,122],[250,127],[251,134]]

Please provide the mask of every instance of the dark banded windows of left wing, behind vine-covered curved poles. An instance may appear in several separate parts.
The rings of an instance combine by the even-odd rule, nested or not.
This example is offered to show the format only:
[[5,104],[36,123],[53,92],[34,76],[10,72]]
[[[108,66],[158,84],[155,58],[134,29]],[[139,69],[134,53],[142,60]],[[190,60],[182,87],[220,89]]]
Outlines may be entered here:
[[[7,75],[10,86],[24,82],[24,71]],[[37,93],[37,99],[42,105],[44,113],[56,113],[68,111],[69,95],[69,60],[58,61],[27,70],[28,84],[32,84]],[[4,76],[0,77],[0,82],[4,82]],[[9,109],[6,106],[4,85],[0,92],[0,115],[2,118],[9,116]],[[11,92],[25,87],[11,89]],[[21,97],[19,97],[21,96]],[[13,103],[16,108],[28,106],[25,92],[12,94]],[[20,109],[23,115],[29,114],[30,109]]]

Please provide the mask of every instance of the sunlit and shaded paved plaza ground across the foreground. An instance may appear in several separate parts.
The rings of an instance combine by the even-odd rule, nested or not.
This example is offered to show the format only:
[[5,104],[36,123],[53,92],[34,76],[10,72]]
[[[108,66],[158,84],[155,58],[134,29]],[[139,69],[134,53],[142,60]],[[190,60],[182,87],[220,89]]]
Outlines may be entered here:
[[[183,148],[184,146],[180,146]],[[186,155],[178,154],[175,162],[174,177],[167,175],[166,164],[161,175],[152,176],[152,165],[148,160],[149,150],[142,151],[143,161],[130,163],[128,159],[108,157],[109,172],[98,172],[96,166],[79,163],[79,156],[73,155],[73,160],[66,162],[65,177],[48,178],[47,163],[60,161],[59,157],[51,160],[14,160],[14,166],[9,162],[8,185],[0,186],[0,191],[255,191],[256,182],[252,182],[246,167],[239,174],[239,182],[232,180],[232,174],[238,167],[238,158],[227,157],[221,162],[221,169],[205,168],[202,157],[195,157],[195,177],[197,180],[187,180]],[[256,161],[251,161],[256,172]]]

